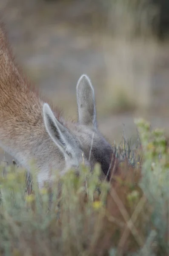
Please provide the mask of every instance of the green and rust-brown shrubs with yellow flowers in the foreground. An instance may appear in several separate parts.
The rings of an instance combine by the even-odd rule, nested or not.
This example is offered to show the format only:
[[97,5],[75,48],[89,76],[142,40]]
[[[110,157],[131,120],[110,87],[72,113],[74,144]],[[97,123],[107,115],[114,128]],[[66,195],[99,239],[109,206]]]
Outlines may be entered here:
[[99,166],[92,174],[81,166],[79,177],[71,170],[52,190],[39,190],[32,168],[29,195],[23,169],[2,169],[0,254],[167,255],[169,148],[163,131],[137,126],[141,147],[123,136],[111,183],[100,181]]

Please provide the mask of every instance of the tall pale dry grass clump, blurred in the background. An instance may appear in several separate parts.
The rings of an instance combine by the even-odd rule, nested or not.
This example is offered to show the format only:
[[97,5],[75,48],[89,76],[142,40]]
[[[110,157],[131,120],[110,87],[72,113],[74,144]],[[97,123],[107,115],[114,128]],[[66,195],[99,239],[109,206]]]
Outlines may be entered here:
[[108,33],[103,38],[107,109],[149,109],[160,49],[151,23],[158,20],[158,10],[150,1],[115,0],[109,1],[107,15]]

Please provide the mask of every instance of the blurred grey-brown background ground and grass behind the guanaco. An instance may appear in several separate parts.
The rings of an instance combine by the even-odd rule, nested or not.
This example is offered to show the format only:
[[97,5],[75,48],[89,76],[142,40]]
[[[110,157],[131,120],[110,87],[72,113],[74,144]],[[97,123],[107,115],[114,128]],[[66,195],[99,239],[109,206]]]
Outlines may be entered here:
[[18,64],[65,117],[86,73],[110,143],[123,125],[136,134],[135,117],[168,133],[168,0],[0,0],[0,15]]

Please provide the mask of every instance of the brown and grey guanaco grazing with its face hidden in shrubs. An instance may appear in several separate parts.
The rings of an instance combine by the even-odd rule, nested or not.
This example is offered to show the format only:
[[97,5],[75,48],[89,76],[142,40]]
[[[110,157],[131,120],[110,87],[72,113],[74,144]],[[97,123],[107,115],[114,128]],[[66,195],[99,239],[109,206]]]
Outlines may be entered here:
[[14,60],[3,24],[0,25],[0,146],[27,171],[37,166],[37,182],[52,182],[49,170],[64,175],[82,161],[92,170],[100,163],[106,175],[113,148],[97,128],[95,93],[88,76],[77,82],[78,121],[68,122],[31,89]]

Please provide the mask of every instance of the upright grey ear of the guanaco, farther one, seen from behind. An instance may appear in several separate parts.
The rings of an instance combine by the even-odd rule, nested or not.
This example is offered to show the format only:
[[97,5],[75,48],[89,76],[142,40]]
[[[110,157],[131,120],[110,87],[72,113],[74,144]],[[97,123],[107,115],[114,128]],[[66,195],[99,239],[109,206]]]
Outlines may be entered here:
[[95,93],[88,76],[82,75],[77,82],[78,122],[97,128]]

